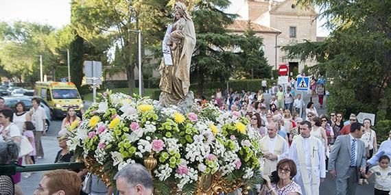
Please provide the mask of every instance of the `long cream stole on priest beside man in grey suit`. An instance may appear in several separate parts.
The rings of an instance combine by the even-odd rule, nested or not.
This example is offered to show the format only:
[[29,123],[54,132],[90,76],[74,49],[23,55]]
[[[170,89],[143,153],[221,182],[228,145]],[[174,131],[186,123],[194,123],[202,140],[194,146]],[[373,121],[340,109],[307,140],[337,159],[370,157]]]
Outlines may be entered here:
[[[297,155],[298,155],[298,162],[300,166],[300,172],[301,172],[301,178],[303,179],[303,185],[304,185],[304,190],[305,194],[313,194],[313,195],[318,195],[319,194],[319,188],[318,188],[318,182],[316,180],[316,158],[319,158],[318,156],[318,138],[315,137],[310,137],[309,138],[309,148],[311,149],[311,174],[312,174],[312,179],[311,182],[309,181],[309,175],[307,173],[307,165],[305,163],[305,148],[303,146],[303,137],[298,136],[296,140],[296,150],[297,150]],[[312,185],[312,187],[311,187]],[[313,192],[311,193],[311,189]]]

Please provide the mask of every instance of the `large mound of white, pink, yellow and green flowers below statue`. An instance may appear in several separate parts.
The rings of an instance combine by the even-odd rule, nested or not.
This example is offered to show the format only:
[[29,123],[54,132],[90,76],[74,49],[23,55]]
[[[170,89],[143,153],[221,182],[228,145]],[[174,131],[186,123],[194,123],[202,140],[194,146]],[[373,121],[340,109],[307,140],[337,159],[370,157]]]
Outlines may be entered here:
[[[157,109],[152,99],[99,94],[67,142],[79,159],[93,160],[92,172],[112,179],[124,166],[143,164],[151,153],[159,194],[194,192],[200,176],[219,172],[226,181],[259,182],[263,169],[261,135],[240,114],[215,107],[182,114],[175,106]],[[110,182],[114,182],[110,180]],[[170,184],[176,185],[176,192]],[[168,191],[167,191],[168,189]]]

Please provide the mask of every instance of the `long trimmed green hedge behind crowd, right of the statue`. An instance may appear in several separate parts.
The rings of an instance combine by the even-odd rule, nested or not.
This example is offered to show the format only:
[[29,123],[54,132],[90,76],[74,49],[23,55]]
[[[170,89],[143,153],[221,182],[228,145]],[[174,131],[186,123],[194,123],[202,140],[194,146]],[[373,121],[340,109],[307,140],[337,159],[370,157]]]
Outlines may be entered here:
[[[229,88],[233,88],[233,90],[237,90],[238,92],[241,92],[242,89],[250,92],[257,92],[258,90],[262,89],[262,80],[263,79],[248,79],[248,80],[230,80],[228,83]],[[268,88],[271,88],[273,83],[277,83],[276,79],[266,79],[268,81]],[[197,94],[197,87],[198,83],[192,83],[190,85],[190,90],[194,92],[194,94]],[[206,97],[210,97],[215,94],[217,88],[220,88],[222,92],[226,89],[227,84],[226,83],[220,83],[220,82],[211,82],[211,83],[204,83],[204,90],[203,95]]]

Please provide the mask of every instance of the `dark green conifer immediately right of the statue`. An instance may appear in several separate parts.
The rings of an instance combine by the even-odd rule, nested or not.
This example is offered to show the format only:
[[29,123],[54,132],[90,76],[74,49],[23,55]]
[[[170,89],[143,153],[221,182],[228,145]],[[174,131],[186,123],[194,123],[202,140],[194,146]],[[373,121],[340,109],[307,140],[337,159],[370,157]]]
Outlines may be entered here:
[[[193,1],[191,1],[193,2]],[[225,28],[233,23],[234,14],[222,10],[228,8],[228,0],[195,1],[193,22],[197,43],[191,59],[191,77],[198,81],[198,95],[202,95],[207,79],[227,81],[240,56],[233,49],[240,42],[239,36],[228,34]]]

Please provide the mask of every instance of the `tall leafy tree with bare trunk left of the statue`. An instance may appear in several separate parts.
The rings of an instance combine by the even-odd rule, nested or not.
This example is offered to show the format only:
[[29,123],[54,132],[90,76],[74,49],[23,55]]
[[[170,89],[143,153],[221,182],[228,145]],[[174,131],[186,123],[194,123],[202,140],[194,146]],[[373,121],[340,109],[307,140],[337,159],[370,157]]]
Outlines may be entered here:
[[[118,54],[123,58],[122,66],[128,76],[130,93],[134,88],[134,67],[137,66],[137,34],[132,30],[141,30],[145,56],[145,44],[156,44],[156,37],[163,37],[165,5],[167,1],[129,1],[129,0],[74,0],[72,6],[72,24],[86,42],[98,48],[102,45],[94,42],[101,38],[110,42],[109,46],[118,46]],[[106,47],[106,51],[110,49]],[[116,56],[117,58],[117,56]],[[143,59],[143,58],[142,58]]]

